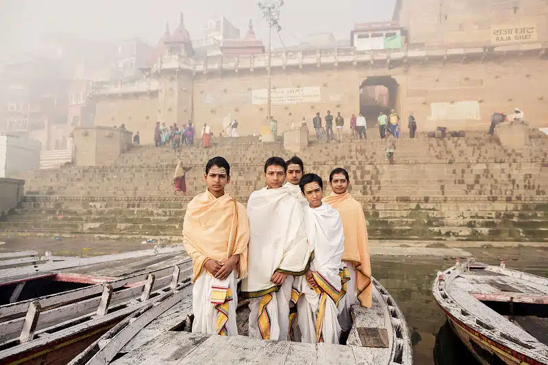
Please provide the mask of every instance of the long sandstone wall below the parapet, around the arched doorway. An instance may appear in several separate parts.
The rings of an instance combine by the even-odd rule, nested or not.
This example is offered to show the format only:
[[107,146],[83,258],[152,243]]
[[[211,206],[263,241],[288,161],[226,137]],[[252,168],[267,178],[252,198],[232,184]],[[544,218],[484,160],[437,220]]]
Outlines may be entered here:
[[[351,114],[360,110],[362,81],[385,75],[399,84],[397,112],[404,121],[414,112],[419,131],[432,131],[438,126],[486,131],[493,112],[510,114],[516,107],[525,112],[532,127],[545,127],[546,66],[547,61],[538,55],[523,55],[508,60],[424,62],[390,69],[314,66],[280,70],[273,72],[273,92],[281,88],[315,87],[320,97],[318,101],[273,105],[272,114],[278,121],[279,134],[289,129],[292,122],[299,124],[303,116],[312,131],[314,114],[320,112],[325,116],[327,110],[332,114],[341,112],[348,130]],[[182,125],[190,118],[189,104],[194,105],[197,129],[208,123],[216,135],[234,118],[239,121],[241,135],[259,134],[261,125],[266,123],[266,105],[252,101],[252,90],[266,88],[264,73],[197,75],[193,86],[177,79],[169,81],[169,77],[166,80],[161,83],[158,97],[153,94],[99,99],[96,124],[114,126],[125,122],[128,129],[140,131],[142,143],[152,143],[156,117],[166,121],[166,125],[175,121]],[[156,109],[161,110],[160,114]],[[406,123],[402,124],[401,130],[406,131]]]

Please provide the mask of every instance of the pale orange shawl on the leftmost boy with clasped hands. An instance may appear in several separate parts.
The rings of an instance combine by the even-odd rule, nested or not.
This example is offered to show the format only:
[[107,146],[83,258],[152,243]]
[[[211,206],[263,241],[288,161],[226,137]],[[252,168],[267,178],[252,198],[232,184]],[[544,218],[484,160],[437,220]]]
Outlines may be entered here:
[[208,259],[225,262],[240,255],[237,277],[247,277],[249,221],[245,207],[229,194],[216,199],[208,190],[186,207],[183,223],[184,249],[192,257],[192,281],[203,273]]

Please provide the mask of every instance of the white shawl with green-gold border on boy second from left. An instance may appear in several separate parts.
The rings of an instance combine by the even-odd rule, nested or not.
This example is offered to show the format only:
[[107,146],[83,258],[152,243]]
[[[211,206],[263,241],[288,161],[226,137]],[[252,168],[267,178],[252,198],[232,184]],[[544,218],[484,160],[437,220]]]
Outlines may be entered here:
[[256,298],[277,291],[270,279],[278,270],[303,275],[310,264],[303,208],[286,187],[262,188],[247,201],[251,234],[244,297]]

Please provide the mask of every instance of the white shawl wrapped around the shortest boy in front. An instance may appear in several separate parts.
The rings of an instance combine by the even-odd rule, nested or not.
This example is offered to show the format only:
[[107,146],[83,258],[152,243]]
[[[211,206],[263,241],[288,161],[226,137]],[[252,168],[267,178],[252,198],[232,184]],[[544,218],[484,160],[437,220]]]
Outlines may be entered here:
[[314,251],[312,269],[340,291],[340,260],[345,251],[345,235],[340,216],[327,203],[322,203],[317,208],[306,208],[305,215],[308,242]]

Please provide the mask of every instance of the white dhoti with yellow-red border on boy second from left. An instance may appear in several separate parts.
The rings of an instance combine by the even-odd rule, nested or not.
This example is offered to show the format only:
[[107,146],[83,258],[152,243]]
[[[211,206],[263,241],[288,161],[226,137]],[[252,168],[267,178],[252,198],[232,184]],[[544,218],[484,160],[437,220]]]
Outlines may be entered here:
[[[291,284],[293,277],[289,275],[282,288],[273,292],[271,301],[266,305],[270,318],[270,340],[287,340],[289,331],[289,301],[291,300]],[[258,325],[260,298],[249,299],[249,337],[261,339]]]

